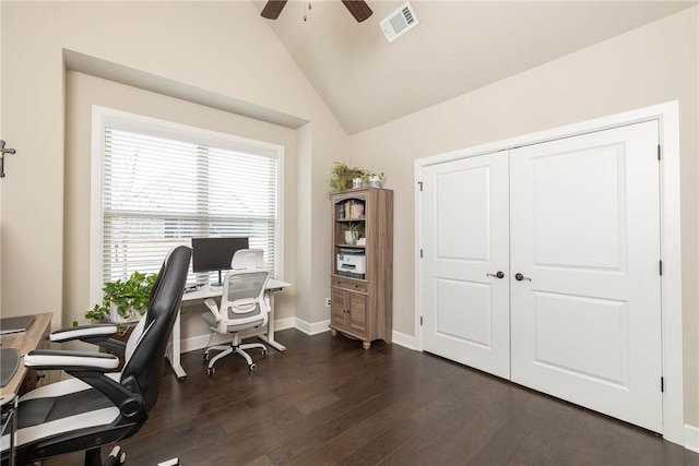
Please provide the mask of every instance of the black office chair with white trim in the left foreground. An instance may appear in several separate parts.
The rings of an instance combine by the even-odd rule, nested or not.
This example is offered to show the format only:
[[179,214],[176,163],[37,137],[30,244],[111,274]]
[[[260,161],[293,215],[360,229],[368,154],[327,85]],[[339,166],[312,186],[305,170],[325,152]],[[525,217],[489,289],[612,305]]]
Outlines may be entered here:
[[[25,464],[85,451],[85,465],[102,465],[100,446],[137,433],[158,397],[163,358],[187,282],[191,250],[173,249],[165,259],[151,291],[146,314],[126,345],[110,339],[112,325],[85,325],[51,335],[54,342],[80,339],[122,349],[123,370],[114,371],[119,359],[105,353],[36,350],[24,365],[36,370],[64,370],[75,379],[38,387],[20,397],[15,457]],[[3,434],[3,449],[9,444]],[[2,452],[3,458],[8,456]],[[122,463],[125,455],[108,462]]]

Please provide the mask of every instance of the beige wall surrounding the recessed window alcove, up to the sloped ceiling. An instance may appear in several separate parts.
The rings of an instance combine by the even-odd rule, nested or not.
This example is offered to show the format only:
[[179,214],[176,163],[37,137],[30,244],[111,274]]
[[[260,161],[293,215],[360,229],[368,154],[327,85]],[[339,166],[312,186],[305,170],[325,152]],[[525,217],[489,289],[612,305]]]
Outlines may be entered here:
[[[83,285],[67,276],[76,267],[74,259],[84,260],[70,255],[78,240],[68,223],[81,213],[67,204],[75,195],[72,174],[64,171],[62,50],[69,49],[310,122],[297,134],[299,165],[286,167],[287,176],[303,180],[286,180],[288,190],[304,196],[289,194],[284,202],[308,215],[286,219],[292,244],[285,266],[300,273],[280,304],[293,299],[308,322],[328,318],[322,299],[330,285],[329,222],[327,214],[312,215],[327,211],[324,178],[332,160],[344,157],[347,136],[251,3],[3,2],[2,8],[3,136],[21,154],[13,176],[3,180],[0,289],[8,314],[51,311],[57,327],[82,311],[72,306],[86,299]],[[298,252],[297,238],[306,239]],[[50,279],[37,294],[27,277],[39,273]]]

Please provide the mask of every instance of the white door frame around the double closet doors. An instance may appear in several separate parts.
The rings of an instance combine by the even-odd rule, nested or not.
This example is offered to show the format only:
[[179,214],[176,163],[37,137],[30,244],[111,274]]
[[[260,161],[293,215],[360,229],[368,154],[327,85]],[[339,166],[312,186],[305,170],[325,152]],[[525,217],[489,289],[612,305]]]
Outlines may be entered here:
[[677,100],[416,159],[414,255],[416,349],[423,350],[419,323],[423,311],[423,271],[419,252],[422,248],[420,219],[423,214],[420,186],[424,167],[653,120],[659,122],[660,144],[662,147],[660,160],[660,259],[663,261],[663,275],[661,276],[662,362],[665,382],[665,391],[663,393],[663,438],[670,442],[684,445],[679,103]]

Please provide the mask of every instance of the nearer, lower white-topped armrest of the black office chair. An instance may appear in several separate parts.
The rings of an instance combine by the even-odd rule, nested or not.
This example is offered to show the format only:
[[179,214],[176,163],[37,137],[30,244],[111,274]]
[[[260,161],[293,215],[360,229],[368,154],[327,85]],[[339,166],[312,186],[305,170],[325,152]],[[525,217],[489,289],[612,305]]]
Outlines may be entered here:
[[110,372],[119,358],[106,353],[35,349],[24,357],[24,366],[35,370]]

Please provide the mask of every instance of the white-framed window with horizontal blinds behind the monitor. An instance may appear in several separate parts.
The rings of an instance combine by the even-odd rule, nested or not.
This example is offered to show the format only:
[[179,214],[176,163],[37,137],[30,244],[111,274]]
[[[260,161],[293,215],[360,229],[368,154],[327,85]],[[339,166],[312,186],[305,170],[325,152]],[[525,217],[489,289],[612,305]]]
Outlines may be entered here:
[[194,237],[248,237],[277,271],[283,147],[102,107],[93,133],[93,299]]

